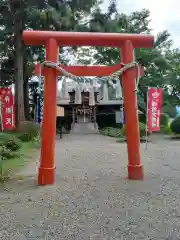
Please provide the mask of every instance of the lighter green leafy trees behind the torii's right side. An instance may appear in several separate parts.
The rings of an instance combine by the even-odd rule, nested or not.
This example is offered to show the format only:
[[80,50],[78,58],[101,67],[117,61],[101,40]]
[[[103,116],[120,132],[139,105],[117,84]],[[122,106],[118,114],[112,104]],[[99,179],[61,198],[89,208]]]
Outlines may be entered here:
[[[93,16],[96,17],[90,22],[91,31],[137,34],[149,34],[151,32],[149,28],[150,12],[147,9],[126,15],[118,13],[116,3],[113,1],[107,13],[102,13],[101,9],[97,7]],[[147,87],[163,87],[166,99],[164,104],[177,102],[177,99],[179,99],[177,82],[179,55],[177,50],[172,50],[170,34],[166,30],[159,33],[153,49],[136,49],[135,56],[136,61],[146,68],[145,75],[141,78],[138,86],[140,109],[142,111],[146,110]],[[121,62],[118,48],[96,48],[93,58],[96,64],[113,65]],[[174,68],[176,73],[173,70]]]

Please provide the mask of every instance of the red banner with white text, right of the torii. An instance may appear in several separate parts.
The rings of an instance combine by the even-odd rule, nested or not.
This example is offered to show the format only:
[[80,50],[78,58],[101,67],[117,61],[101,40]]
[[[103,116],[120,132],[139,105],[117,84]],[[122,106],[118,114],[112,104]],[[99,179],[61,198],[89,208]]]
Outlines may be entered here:
[[162,107],[162,88],[148,89],[148,131],[160,131],[160,117]]

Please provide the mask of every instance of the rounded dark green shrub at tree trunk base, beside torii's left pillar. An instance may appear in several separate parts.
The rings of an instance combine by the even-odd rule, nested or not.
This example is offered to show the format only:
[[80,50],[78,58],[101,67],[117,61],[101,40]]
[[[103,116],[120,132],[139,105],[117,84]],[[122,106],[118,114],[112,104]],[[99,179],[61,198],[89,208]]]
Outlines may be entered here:
[[40,125],[34,122],[22,122],[16,131],[21,141],[29,142],[40,134]]

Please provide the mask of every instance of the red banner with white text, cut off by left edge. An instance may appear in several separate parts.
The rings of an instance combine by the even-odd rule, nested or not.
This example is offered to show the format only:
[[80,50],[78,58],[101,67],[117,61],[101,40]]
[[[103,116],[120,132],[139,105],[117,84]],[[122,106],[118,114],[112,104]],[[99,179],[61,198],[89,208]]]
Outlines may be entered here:
[[14,128],[14,96],[10,88],[0,88],[2,130]]

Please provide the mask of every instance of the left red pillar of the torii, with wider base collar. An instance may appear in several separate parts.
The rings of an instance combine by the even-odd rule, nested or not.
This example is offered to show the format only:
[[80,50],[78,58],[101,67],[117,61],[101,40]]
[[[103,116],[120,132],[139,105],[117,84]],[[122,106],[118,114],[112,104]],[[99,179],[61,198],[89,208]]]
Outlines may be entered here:
[[[59,55],[58,43],[49,39],[46,43],[46,60],[56,63]],[[42,123],[41,161],[38,184],[53,184],[55,181],[55,137],[56,137],[56,69],[47,68],[44,81],[44,118]]]

